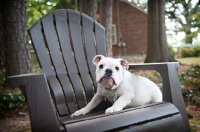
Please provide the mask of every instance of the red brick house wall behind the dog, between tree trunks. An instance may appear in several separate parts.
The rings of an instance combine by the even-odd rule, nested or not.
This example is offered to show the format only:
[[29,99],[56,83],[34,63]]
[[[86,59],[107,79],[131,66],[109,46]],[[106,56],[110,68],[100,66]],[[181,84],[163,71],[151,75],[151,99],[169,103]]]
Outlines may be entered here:
[[[120,48],[118,45],[113,45],[113,56],[146,54],[147,13],[125,1],[119,1],[118,7],[120,34],[126,46]],[[118,29],[116,0],[113,0],[113,24],[116,24]]]

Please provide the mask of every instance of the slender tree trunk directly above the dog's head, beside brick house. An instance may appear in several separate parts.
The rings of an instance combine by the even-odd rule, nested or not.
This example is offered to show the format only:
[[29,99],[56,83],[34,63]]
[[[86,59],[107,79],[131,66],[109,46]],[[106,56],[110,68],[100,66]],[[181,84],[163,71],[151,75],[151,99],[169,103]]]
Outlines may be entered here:
[[109,57],[112,57],[112,2],[112,0],[101,0],[100,8],[100,23],[105,27],[106,52]]

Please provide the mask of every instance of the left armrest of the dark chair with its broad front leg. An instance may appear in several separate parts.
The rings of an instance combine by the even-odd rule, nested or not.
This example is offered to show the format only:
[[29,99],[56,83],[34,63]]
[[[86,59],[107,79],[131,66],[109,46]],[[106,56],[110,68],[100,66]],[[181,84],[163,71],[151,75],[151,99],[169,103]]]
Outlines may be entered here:
[[23,86],[31,118],[32,131],[60,131],[49,86],[44,74],[8,77],[11,86]]

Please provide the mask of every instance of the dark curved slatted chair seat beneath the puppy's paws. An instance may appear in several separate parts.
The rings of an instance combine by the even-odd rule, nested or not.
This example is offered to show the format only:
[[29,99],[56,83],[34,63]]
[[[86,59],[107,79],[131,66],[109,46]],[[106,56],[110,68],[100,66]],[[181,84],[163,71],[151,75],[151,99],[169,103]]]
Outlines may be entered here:
[[[153,103],[142,107],[128,108],[113,114],[88,114],[64,121],[66,131],[161,131],[160,121],[166,129],[162,131],[186,131],[177,108],[168,102]],[[153,126],[153,127],[152,127]],[[151,128],[152,127],[152,128]],[[151,128],[151,129],[150,129]],[[168,129],[167,129],[168,128]]]

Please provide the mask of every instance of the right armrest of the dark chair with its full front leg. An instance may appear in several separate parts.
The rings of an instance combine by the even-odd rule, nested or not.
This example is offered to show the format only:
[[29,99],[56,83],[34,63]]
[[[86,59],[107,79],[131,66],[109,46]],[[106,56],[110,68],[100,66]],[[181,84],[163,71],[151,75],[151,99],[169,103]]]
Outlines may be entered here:
[[130,70],[156,70],[163,80],[163,100],[171,102],[180,111],[187,130],[190,131],[187,112],[178,78],[179,62],[145,63],[129,65]]

